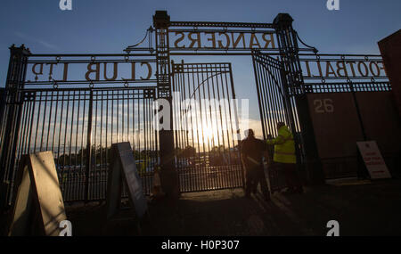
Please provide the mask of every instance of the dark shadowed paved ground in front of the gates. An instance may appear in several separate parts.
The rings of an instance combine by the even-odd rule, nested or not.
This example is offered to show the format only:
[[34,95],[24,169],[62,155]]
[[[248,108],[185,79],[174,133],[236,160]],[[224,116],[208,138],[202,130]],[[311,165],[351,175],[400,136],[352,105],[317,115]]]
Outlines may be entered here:
[[[75,235],[137,235],[131,210],[107,225],[104,204],[67,208]],[[143,235],[325,235],[335,219],[340,235],[401,235],[401,180],[348,180],[307,187],[306,193],[244,197],[241,189],[184,193],[149,202]]]

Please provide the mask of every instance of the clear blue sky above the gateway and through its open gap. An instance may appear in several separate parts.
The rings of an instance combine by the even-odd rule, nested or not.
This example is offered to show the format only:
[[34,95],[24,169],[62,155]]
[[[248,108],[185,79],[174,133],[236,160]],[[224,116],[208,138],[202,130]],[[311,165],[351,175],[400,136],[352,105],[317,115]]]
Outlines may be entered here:
[[[265,23],[288,12],[302,40],[320,53],[380,53],[377,42],[401,28],[399,0],[340,0],[339,11],[327,10],[326,0],[72,0],[72,11],[61,11],[59,2],[0,2],[0,86],[5,86],[12,44],[25,44],[32,53],[122,53],[143,38],[156,10],[168,11],[171,20]],[[185,61],[233,62],[237,97],[250,99],[250,109],[255,109],[250,117],[258,119],[250,57]]]

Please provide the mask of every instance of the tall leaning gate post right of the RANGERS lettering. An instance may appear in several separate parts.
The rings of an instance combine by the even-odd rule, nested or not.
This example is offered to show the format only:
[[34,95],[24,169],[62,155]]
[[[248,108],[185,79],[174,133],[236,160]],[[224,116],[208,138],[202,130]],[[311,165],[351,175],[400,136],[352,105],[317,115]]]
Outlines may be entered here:
[[305,170],[302,174],[303,178],[307,184],[323,184],[323,168],[317,152],[312,119],[309,115],[307,93],[299,61],[298,37],[295,30],[292,29],[292,21],[293,19],[288,13],[279,13],[273,21],[284,67],[284,76],[288,82],[288,89],[285,92],[289,96],[289,100],[290,96],[294,96],[297,106],[302,143],[300,160],[302,161],[302,171]]

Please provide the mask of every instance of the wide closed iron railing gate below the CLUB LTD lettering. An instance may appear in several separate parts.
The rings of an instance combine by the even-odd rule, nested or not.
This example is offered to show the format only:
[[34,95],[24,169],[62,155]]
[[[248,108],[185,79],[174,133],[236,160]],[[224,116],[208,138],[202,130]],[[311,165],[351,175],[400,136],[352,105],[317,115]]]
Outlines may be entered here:
[[151,193],[158,144],[152,127],[155,88],[22,91],[11,183],[23,154],[53,151],[64,201],[103,200],[111,143],[132,144],[144,193]]

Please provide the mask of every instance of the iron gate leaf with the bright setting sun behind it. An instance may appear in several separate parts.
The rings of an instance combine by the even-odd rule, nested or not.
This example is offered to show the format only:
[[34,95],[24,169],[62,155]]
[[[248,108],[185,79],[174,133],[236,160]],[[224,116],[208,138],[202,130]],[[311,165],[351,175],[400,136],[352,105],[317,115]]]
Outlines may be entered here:
[[174,63],[173,119],[181,192],[243,186],[231,63]]

